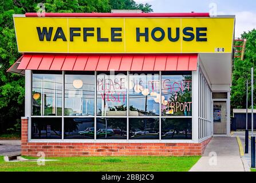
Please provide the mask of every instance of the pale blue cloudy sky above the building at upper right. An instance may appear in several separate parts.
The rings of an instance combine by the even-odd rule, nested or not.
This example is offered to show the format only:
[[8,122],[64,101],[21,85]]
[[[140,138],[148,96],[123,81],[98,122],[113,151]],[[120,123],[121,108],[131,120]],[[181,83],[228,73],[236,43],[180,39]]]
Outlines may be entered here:
[[255,0],[134,0],[149,3],[155,13],[198,13],[213,12],[217,15],[235,15],[235,37],[243,31],[256,29]]

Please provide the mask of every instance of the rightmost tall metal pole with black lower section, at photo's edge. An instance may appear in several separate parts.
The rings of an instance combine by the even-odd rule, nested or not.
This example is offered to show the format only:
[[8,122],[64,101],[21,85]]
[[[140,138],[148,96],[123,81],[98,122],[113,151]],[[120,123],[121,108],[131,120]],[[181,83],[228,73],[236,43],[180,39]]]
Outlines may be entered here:
[[255,137],[253,134],[253,67],[251,67],[251,168],[255,168]]

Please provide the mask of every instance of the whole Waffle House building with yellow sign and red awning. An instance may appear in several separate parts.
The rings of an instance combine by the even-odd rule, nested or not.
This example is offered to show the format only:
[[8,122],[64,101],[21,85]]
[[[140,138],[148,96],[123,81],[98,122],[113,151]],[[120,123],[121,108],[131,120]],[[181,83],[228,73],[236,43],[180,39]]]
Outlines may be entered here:
[[230,134],[234,16],[13,15],[22,155],[195,156]]

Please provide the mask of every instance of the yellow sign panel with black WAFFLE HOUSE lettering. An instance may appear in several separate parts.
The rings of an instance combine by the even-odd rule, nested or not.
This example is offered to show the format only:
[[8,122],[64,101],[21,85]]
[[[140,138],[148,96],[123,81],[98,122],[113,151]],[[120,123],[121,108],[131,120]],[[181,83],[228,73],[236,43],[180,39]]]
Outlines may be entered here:
[[14,17],[22,53],[232,53],[234,18]]

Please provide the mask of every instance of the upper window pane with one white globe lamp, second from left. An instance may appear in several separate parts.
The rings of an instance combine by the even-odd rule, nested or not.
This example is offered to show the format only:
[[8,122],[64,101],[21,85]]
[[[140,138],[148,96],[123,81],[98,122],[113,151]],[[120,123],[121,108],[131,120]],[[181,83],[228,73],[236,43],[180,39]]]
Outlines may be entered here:
[[65,116],[94,115],[94,73],[65,74]]

